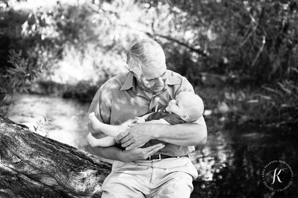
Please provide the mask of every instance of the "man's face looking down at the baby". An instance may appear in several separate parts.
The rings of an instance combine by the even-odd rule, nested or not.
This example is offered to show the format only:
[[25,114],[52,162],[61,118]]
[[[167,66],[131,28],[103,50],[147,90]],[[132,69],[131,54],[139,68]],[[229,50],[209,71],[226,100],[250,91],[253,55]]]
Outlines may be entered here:
[[157,93],[163,90],[167,79],[167,68],[165,62],[159,68],[142,68],[141,77],[137,78],[138,86],[147,92]]

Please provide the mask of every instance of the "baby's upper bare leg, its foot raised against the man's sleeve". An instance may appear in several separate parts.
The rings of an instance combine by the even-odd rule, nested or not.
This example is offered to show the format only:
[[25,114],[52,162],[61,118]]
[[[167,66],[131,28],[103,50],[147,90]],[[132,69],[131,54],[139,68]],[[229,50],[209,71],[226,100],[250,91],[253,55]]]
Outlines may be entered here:
[[92,127],[95,130],[101,130],[104,134],[108,136],[117,136],[121,132],[129,129],[128,126],[115,126],[115,125],[107,125],[102,122],[100,122],[96,117],[94,112],[90,113],[88,116],[88,119],[91,121]]

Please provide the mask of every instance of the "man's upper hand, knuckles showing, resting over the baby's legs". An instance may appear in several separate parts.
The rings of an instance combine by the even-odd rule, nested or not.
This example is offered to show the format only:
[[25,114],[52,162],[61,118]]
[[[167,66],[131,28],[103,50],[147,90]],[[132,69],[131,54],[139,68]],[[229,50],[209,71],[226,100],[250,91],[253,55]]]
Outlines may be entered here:
[[122,147],[126,147],[126,150],[130,150],[134,147],[138,147],[149,140],[153,139],[153,135],[149,133],[151,131],[150,124],[139,124],[129,128],[126,131],[120,133],[117,137],[122,143]]

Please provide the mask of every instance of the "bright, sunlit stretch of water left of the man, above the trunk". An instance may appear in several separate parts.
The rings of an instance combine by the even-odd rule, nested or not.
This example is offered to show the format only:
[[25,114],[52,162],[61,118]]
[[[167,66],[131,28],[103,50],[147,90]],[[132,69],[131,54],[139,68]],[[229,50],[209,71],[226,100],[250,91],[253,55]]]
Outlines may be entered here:
[[32,131],[38,128],[38,134],[87,151],[89,106],[76,99],[15,94],[6,117]]

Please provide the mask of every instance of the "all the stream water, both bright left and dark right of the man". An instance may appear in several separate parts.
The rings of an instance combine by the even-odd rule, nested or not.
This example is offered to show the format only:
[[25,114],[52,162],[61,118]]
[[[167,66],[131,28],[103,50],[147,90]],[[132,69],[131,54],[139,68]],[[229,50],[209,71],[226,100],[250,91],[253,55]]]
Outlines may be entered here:
[[[88,152],[85,137],[89,105],[75,99],[18,94],[14,96],[6,117],[29,126],[33,131],[39,121],[42,130],[38,130],[39,134]],[[45,117],[50,121],[44,121]],[[297,197],[297,131],[225,124],[208,119],[206,122],[207,143],[197,146],[196,151],[190,154],[199,173],[199,177],[193,181],[192,198]],[[272,161],[277,162],[266,167]],[[288,169],[279,175],[281,182],[271,184],[273,176],[272,173],[267,174],[268,170],[285,168],[285,164],[279,161],[288,164]],[[286,172],[290,167],[292,176]],[[266,174],[262,173],[264,169]],[[291,185],[283,189],[287,186],[285,183],[289,182]],[[279,189],[282,191],[279,192]]]

